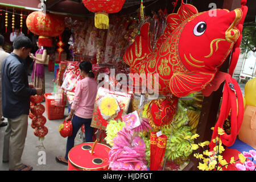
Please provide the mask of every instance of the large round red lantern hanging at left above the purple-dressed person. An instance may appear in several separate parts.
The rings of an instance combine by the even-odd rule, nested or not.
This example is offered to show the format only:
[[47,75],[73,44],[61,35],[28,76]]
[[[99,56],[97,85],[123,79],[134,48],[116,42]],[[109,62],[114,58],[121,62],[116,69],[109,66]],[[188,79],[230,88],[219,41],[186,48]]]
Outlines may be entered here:
[[52,47],[52,37],[63,33],[65,26],[63,19],[42,11],[34,11],[27,16],[27,28],[35,35],[39,35],[40,46]]

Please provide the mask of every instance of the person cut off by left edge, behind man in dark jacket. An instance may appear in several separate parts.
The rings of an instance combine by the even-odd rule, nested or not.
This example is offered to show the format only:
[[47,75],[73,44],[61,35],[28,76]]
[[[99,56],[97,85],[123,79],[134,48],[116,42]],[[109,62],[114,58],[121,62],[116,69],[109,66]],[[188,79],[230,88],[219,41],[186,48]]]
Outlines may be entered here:
[[[10,53],[3,51],[4,44],[5,44],[5,38],[2,35],[0,35],[0,68],[3,60],[10,55]],[[1,82],[1,69],[0,69],[0,82]],[[2,96],[1,95],[2,93],[1,93],[1,84],[0,84],[0,127],[3,127],[7,125],[7,122],[3,122],[5,118],[3,118],[3,113],[2,113]]]

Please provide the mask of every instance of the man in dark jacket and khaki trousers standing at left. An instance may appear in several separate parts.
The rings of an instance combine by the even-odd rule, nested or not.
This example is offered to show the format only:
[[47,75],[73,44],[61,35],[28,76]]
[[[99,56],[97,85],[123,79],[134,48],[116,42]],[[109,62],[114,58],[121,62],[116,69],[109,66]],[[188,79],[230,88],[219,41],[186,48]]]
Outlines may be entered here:
[[21,157],[27,136],[30,96],[42,95],[42,89],[28,84],[24,60],[31,51],[31,40],[19,36],[13,47],[13,52],[3,60],[1,67],[3,117],[8,121],[3,141],[3,162],[9,162],[10,170],[30,171],[32,167],[24,165]]

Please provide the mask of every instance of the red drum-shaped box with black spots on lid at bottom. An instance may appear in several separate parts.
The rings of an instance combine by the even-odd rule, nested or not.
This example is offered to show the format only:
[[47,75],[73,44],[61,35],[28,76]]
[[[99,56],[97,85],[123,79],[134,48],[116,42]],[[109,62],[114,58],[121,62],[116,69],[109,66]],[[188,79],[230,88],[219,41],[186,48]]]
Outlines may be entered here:
[[68,171],[108,171],[111,148],[97,142],[73,147],[68,153]]

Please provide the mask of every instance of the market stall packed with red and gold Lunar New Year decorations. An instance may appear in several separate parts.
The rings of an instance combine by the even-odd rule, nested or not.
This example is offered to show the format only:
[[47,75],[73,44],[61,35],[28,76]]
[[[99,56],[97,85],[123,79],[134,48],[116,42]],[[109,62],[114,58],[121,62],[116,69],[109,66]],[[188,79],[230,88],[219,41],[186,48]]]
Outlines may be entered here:
[[[216,11],[207,11],[198,2],[165,2],[154,10],[155,1],[108,1],[104,6],[102,2],[80,1],[86,17],[63,17],[55,23],[59,32],[43,35],[52,36],[58,47],[56,93],[45,94],[46,109],[35,98],[31,102],[35,135],[42,139],[48,133],[45,110],[48,119],[64,117],[65,102],[72,105],[76,84],[82,80],[79,64],[90,61],[100,85],[91,124],[94,143],[74,147],[69,170],[222,170],[238,160],[245,163],[241,155],[236,161],[229,154],[225,160],[219,156],[233,146],[243,122],[244,98],[232,75],[246,1],[216,1]],[[46,2],[46,10],[57,4]],[[33,30],[36,22],[30,15],[28,30],[40,36],[44,32]],[[63,49],[64,27],[69,32],[68,52]],[[64,52],[70,59],[61,58]],[[63,137],[71,130],[68,121],[59,128]],[[105,149],[99,154],[101,148]],[[90,156],[93,162],[75,156]]]

